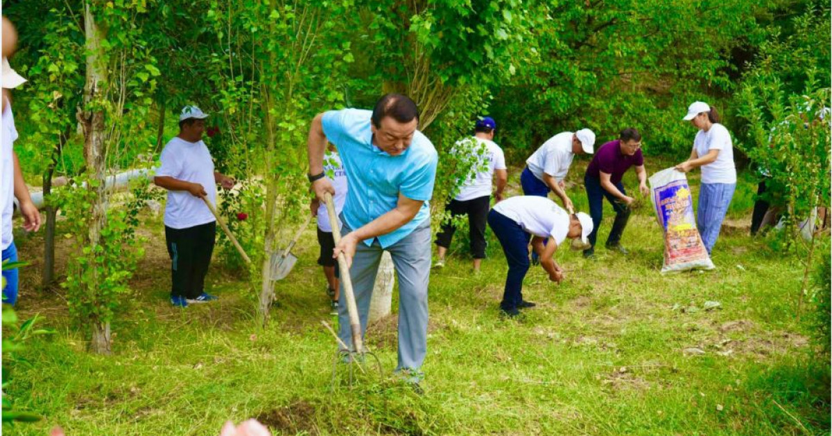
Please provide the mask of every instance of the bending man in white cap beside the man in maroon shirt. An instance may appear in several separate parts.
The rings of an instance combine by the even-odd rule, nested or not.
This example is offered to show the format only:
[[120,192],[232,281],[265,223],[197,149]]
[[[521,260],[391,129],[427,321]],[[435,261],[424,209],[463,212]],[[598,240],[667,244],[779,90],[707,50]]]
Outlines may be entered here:
[[547,197],[552,191],[561,198],[563,207],[571,211],[574,207],[563,189],[563,179],[575,154],[592,154],[594,146],[595,134],[589,129],[562,132],[549,138],[526,160],[526,169],[520,174],[523,194]]

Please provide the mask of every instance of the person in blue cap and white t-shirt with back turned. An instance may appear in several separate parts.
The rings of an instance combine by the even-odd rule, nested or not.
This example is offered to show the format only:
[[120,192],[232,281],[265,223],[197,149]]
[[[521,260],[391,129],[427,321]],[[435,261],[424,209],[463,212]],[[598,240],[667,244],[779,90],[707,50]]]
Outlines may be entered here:
[[[480,171],[473,179],[468,179],[463,184],[459,194],[453,198],[445,209],[450,211],[452,217],[468,215],[468,237],[471,240],[471,254],[473,256],[473,269],[479,272],[480,264],[485,258],[485,227],[488,219],[488,210],[491,208],[491,183],[493,176],[497,178],[497,189],[494,192],[494,199],[499,203],[503,199],[503,189],[508,181],[506,169],[506,158],[503,149],[494,143],[494,132],[497,130],[497,123],[493,118],[486,116],[477,120],[474,126],[474,140],[486,148],[481,159],[488,160],[488,169]],[[484,164],[484,162],[478,163]],[[453,223],[445,223],[442,230],[436,235],[438,261],[433,267],[445,266],[445,253],[451,246],[451,239],[456,228]]]

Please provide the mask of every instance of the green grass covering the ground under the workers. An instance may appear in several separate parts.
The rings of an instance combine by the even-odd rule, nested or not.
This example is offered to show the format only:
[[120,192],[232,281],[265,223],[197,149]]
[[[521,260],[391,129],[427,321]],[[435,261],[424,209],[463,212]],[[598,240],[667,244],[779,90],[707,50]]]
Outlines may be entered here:
[[[571,179],[577,181],[576,174],[573,169]],[[627,188],[635,187],[626,180]],[[577,188],[570,193],[585,208],[585,196]],[[605,207],[599,241],[612,222]],[[748,215],[746,208],[740,218]],[[493,236],[480,276],[471,273],[464,238],[457,238],[448,267],[431,275],[426,393],[420,396],[390,374],[395,317],[367,334],[384,378],[330,390],[334,340],[319,321],[334,320],[314,263],[312,230],[295,250],[295,271],[278,283],[280,307],[260,329],[252,316],[254,296],[216,259],[209,282],[220,301],[185,311],[170,306],[160,221],[147,219],[151,242],[132,282],[134,294],[114,323],[111,356],[84,351],[57,295],[62,291],[32,285],[40,238],[20,241],[22,258],[35,259],[22,272],[20,316],[41,312],[58,333],[27,344],[23,356],[32,366],[15,368],[6,389],[17,407],[47,419],[4,426],[4,432],[40,435],[61,424],[69,435],[215,435],[226,419],[251,417],[275,434],[780,435],[830,429],[829,367],[812,363],[808,327],[795,321],[800,266],[750,239],[747,223],[721,235],[716,271],[661,276],[661,231],[651,208],[641,208],[623,240],[631,256],[600,250],[592,262],[559,251],[558,262],[574,270],[561,286],[533,268],[523,291],[538,306],[522,321],[498,316],[507,266]],[[701,309],[705,301],[722,307],[672,310]],[[394,312],[397,304],[394,293]],[[687,348],[706,354],[686,355]]]

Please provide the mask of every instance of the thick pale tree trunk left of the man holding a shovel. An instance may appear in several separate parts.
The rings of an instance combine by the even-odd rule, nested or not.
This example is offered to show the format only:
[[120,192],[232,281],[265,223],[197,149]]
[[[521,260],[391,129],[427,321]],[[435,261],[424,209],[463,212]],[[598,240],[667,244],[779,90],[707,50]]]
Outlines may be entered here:
[[[84,161],[87,164],[87,171],[92,180],[100,183],[87,184],[87,189],[93,194],[87,220],[85,245],[91,249],[101,243],[101,231],[106,221],[106,197],[105,197],[105,154],[106,154],[106,132],[104,125],[104,111],[96,104],[97,100],[105,98],[103,95],[107,81],[106,65],[102,59],[102,31],[98,29],[90,2],[84,4],[84,29],[87,37],[87,83],[84,86],[84,107],[85,110],[94,107],[94,110],[85,112],[82,115],[82,126],[84,130]],[[86,266],[93,274],[97,272],[98,265],[95,257]],[[94,276],[92,282],[87,286],[88,291],[94,295],[98,291],[98,283],[103,277]],[[101,319],[90,319],[92,322],[92,341],[90,347],[97,353],[106,354],[110,351],[110,323]]]

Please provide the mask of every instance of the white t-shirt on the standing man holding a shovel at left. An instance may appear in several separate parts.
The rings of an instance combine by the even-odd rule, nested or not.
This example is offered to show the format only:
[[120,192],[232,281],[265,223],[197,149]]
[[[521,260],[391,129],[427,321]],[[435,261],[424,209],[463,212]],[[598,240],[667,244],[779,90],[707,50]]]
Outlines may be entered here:
[[[169,176],[201,184],[211,204],[216,204],[214,161],[202,141],[188,142],[176,136],[161,150],[161,165],[156,176]],[[169,228],[191,228],[215,221],[214,214],[202,198],[188,191],[167,191],[165,225]]]

